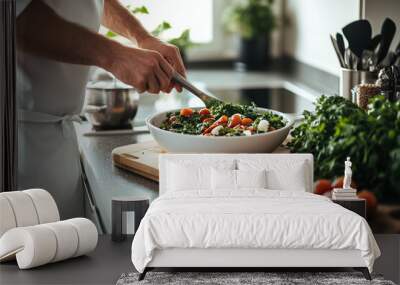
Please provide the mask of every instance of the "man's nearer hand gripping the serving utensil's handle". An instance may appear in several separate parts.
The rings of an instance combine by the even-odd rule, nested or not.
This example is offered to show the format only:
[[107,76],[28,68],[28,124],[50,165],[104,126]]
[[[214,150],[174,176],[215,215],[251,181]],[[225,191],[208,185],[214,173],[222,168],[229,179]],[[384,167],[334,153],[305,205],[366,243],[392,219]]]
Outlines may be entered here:
[[157,51],[120,46],[112,52],[106,68],[140,93],[171,92],[172,66]]

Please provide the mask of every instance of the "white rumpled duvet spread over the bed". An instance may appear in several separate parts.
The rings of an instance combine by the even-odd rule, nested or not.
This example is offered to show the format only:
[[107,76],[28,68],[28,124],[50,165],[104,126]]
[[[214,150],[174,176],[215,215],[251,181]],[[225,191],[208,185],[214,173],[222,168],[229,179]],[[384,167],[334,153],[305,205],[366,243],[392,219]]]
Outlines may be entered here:
[[368,223],[328,198],[300,191],[196,191],[156,199],[132,244],[143,272],[155,249],[358,249],[372,271],[380,251]]

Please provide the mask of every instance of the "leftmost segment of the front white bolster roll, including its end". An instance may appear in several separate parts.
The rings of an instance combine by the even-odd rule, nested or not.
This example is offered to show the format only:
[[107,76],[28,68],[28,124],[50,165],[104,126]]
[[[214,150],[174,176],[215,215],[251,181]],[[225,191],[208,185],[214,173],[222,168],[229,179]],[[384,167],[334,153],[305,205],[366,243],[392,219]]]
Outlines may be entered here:
[[53,231],[42,225],[19,227],[7,231],[0,239],[0,259],[16,253],[20,269],[49,263],[57,249]]

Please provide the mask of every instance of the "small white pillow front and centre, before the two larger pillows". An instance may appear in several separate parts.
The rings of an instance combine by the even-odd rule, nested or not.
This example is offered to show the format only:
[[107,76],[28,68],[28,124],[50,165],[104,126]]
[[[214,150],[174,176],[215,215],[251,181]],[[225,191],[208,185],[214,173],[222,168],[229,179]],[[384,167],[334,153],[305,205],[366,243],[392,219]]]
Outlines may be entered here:
[[266,188],[266,171],[263,170],[221,170],[211,171],[213,190],[240,190],[243,188]]

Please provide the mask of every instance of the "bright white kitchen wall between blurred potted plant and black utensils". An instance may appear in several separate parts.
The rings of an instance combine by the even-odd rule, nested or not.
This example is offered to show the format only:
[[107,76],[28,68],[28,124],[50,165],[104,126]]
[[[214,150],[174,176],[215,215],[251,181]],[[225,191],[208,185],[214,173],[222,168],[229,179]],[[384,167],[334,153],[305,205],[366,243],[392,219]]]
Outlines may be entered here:
[[286,0],[284,5],[287,22],[283,31],[284,53],[339,75],[339,63],[329,34],[360,18],[361,1]]

